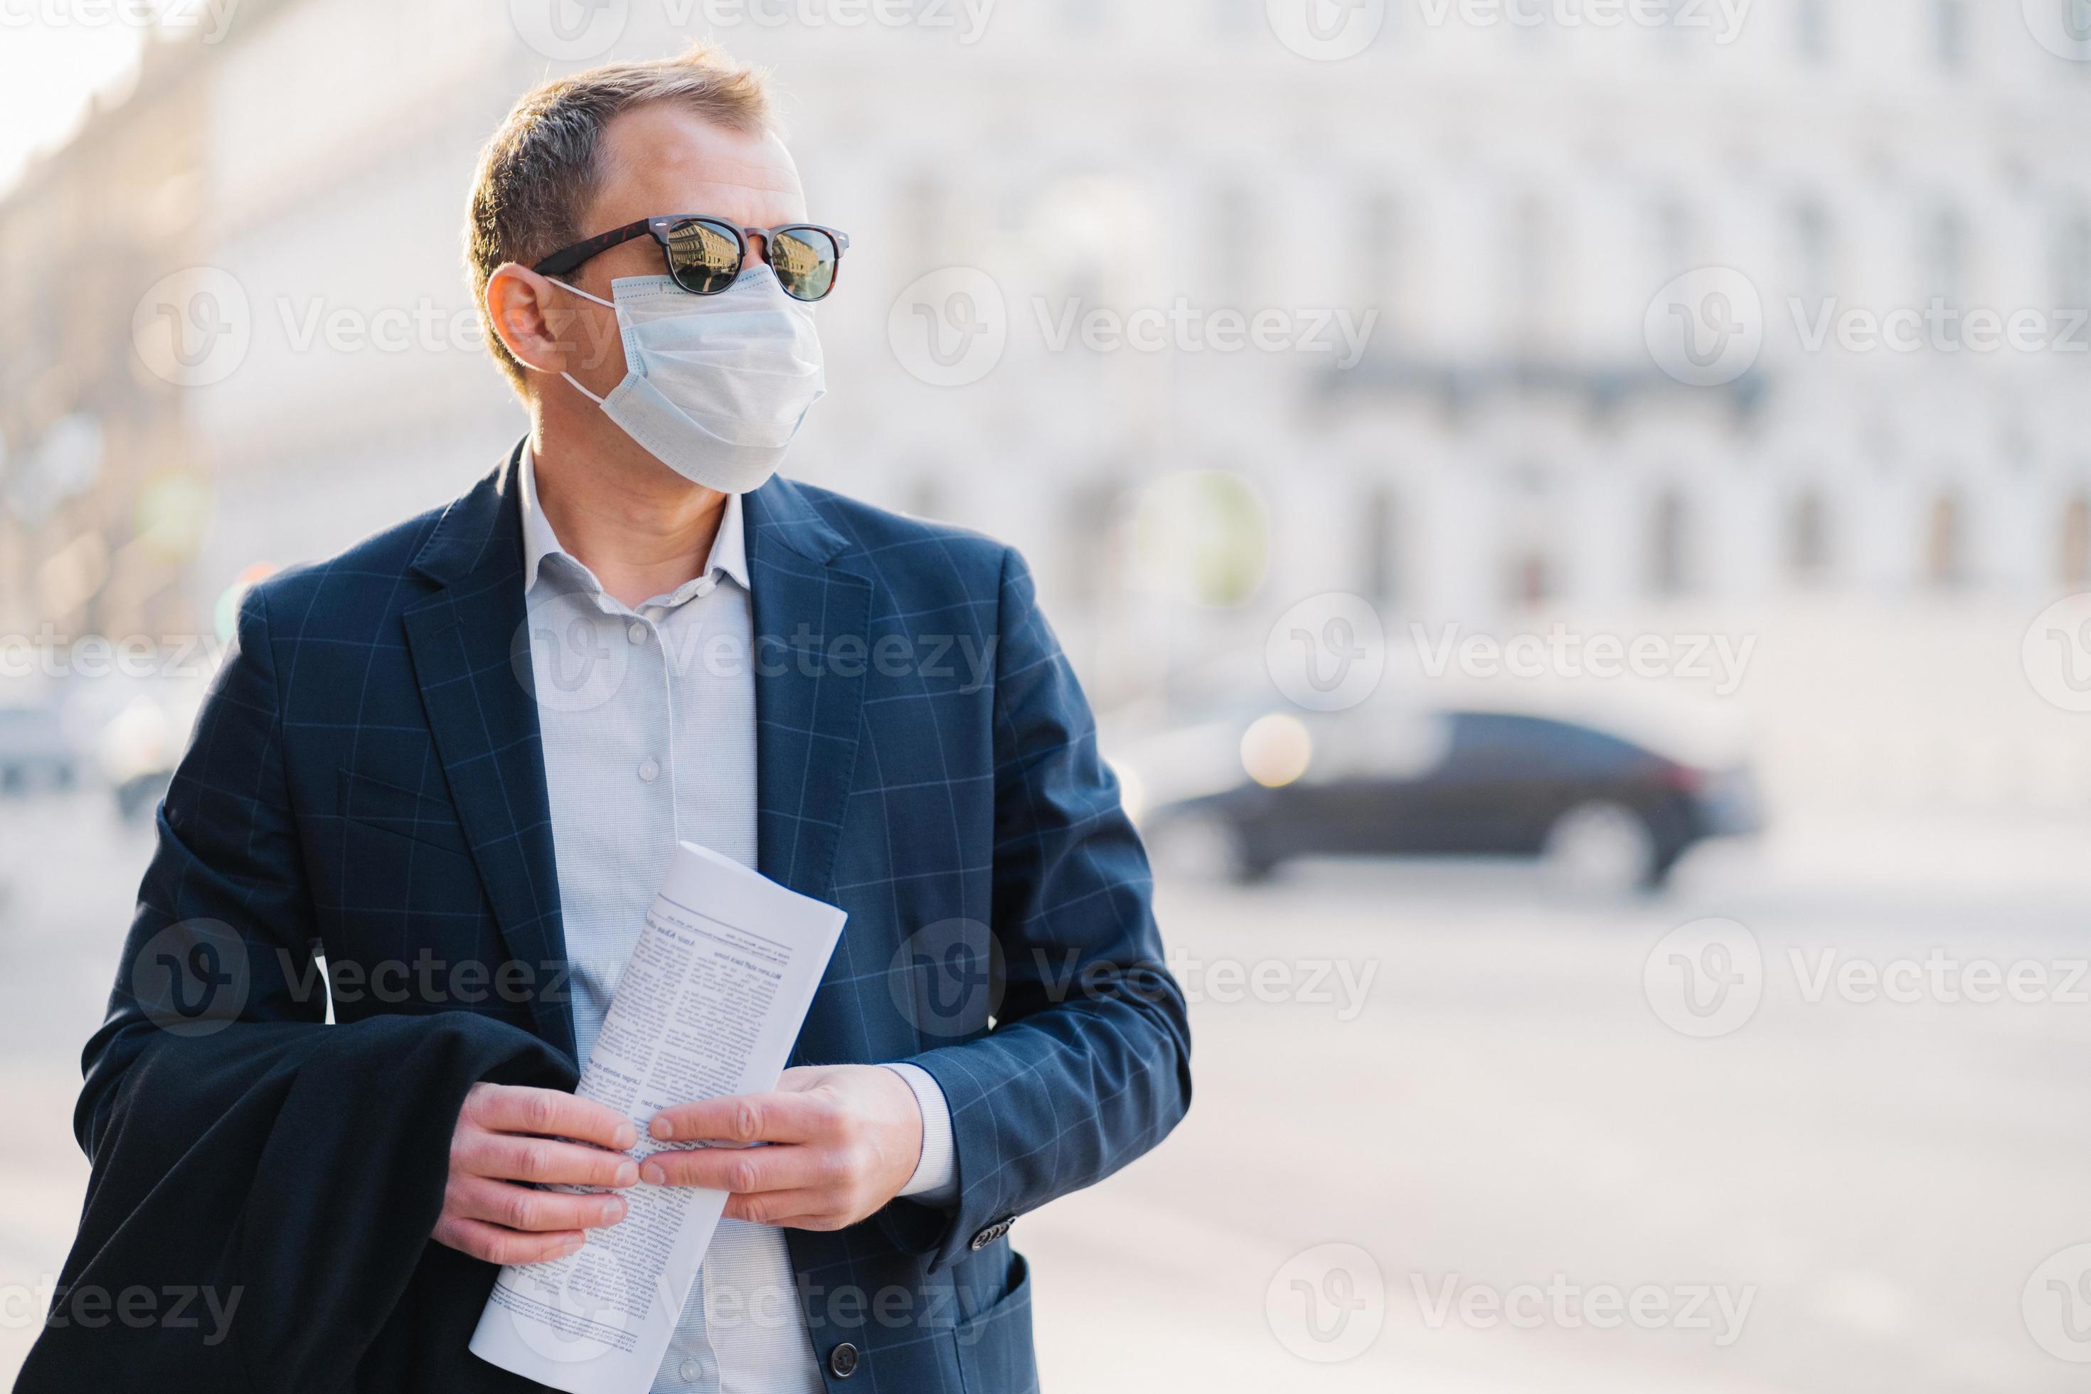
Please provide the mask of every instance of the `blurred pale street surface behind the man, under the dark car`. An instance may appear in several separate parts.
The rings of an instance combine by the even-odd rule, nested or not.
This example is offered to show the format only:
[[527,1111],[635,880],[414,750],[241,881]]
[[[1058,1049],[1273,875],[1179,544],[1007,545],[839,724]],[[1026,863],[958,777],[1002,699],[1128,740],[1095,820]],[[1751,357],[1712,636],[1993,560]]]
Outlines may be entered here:
[[[1018,1223],[1046,1388],[2081,1388],[2020,1296],[2091,1237],[2091,1005],[2070,1001],[2087,984],[2043,1003],[1811,1003],[1790,951],[1809,972],[1825,951],[2081,961],[2091,867],[2072,849],[2091,828],[1867,828],[1715,844],[1658,899],[1581,909],[1524,867],[1303,863],[1250,890],[1163,886],[1200,997],[1196,1103],[1169,1145]],[[36,982],[0,1018],[6,1379],[33,1335],[13,1294],[56,1271],[77,1218],[75,1062],[144,855],[107,792],[0,800],[0,972]],[[1765,957],[1763,1005],[1719,1039],[1671,1030],[1644,995],[1650,949],[1702,915],[1748,926]],[[1259,966],[1276,966],[1261,993]],[[1265,1287],[1338,1239],[1378,1267],[1384,1329],[1313,1365]],[[1470,1287],[1508,1298],[1556,1275],[1754,1296],[1725,1346],[1713,1304],[1710,1329],[1460,1317]]]

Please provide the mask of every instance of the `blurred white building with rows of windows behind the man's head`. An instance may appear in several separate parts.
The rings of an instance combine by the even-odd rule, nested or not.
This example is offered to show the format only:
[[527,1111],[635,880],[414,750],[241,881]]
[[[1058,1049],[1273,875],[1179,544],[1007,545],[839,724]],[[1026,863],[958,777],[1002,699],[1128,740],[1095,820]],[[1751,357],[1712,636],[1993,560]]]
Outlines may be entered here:
[[[251,345],[186,391],[215,472],[192,585],[500,456],[521,416],[460,263],[479,142],[546,73],[709,36],[776,69],[811,213],[853,236],[795,472],[1020,543],[1106,700],[1257,681],[1271,619],[1345,589],[1397,642],[1777,629],[1773,742],[1924,744],[1945,688],[1853,704],[1855,677],[1936,648],[1913,671],[1991,721],[2022,675],[1970,688],[1951,654],[2016,654],[2091,587],[2091,54],[2024,8],[249,0],[203,59],[197,242]],[[924,291],[949,268],[981,276]],[[1763,334],[1717,387],[1644,330],[1700,268]],[[1926,311],[1922,347],[1840,347]],[[1972,311],[2041,328],[1982,351]],[[1230,316],[1271,347],[1215,349]],[[1004,347],[939,387],[930,328]],[[1811,711],[1840,696],[1842,727]]]

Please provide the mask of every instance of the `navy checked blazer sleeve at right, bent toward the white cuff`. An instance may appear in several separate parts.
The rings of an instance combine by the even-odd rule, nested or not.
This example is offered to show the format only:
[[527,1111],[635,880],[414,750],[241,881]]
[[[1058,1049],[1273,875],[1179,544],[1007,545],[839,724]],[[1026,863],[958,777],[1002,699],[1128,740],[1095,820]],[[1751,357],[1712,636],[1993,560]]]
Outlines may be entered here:
[[[1022,558],[995,633],[993,1026],[912,1064],[943,1089],[953,1208],[889,1233],[933,1269],[1119,1170],[1190,1108],[1190,1022],[1163,963],[1140,834]],[[930,1218],[935,1216],[935,1221]]]

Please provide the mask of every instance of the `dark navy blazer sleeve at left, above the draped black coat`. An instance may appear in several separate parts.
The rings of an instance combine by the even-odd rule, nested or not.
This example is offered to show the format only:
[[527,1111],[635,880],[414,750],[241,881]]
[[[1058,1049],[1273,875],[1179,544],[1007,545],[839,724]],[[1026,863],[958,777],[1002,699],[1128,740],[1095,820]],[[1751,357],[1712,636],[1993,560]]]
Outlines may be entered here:
[[144,1051],[232,1022],[326,1018],[278,692],[268,598],[255,587],[159,807],[159,844],[109,1014],[82,1058],[86,1089],[73,1131],[90,1160],[115,1089]]

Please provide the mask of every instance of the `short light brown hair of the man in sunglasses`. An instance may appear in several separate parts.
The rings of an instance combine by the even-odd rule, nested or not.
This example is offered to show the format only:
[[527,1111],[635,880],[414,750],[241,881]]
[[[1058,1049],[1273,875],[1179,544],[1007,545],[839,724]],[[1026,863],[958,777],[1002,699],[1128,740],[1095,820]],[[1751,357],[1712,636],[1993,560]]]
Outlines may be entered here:
[[523,364],[493,332],[487,280],[506,261],[535,265],[590,236],[581,213],[602,176],[602,127],[650,102],[675,102],[734,132],[776,130],[767,75],[711,44],[692,44],[673,59],[604,63],[525,92],[479,155],[464,263],[487,349],[516,391]]

